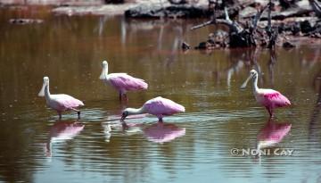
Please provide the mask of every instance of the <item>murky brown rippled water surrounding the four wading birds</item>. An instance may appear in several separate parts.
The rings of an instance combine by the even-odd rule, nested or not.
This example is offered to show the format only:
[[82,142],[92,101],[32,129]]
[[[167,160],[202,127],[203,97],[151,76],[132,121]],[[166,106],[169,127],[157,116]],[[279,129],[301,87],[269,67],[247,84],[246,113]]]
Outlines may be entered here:
[[[16,17],[45,22],[8,23]],[[320,46],[276,49],[272,62],[268,50],[184,54],[180,39],[195,46],[212,30],[191,32],[194,23],[0,10],[0,180],[320,182]],[[119,104],[117,92],[98,79],[105,59],[111,72],[145,79],[149,89]],[[292,101],[270,123],[251,87],[239,89],[251,68],[262,74],[260,87]],[[37,97],[45,75],[52,93],[84,101],[80,121],[73,112],[59,121]],[[131,128],[122,130],[120,110],[154,96],[183,104],[186,112],[163,125],[152,116],[129,119]],[[259,134],[289,128],[267,149],[293,149],[292,156],[230,154],[256,148]]]

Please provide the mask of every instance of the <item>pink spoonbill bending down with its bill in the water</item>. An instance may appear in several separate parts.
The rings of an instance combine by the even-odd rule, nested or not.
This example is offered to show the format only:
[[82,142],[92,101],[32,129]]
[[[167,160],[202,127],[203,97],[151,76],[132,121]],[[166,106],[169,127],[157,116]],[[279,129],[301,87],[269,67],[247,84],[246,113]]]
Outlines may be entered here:
[[185,107],[167,98],[158,96],[145,102],[141,108],[126,108],[122,112],[121,121],[124,121],[130,114],[150,113],[157,116],[159,121],[162,122],[163,116],[169,116],[177,112],[185,112]]

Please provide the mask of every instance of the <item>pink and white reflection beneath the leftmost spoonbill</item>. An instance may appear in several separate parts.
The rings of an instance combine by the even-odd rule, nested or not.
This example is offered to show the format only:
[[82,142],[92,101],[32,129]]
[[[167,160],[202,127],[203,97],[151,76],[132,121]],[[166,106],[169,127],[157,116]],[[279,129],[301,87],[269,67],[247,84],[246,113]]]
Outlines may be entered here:
[[53,143],[62,143],[76,137],[85,127],[78,121],[58,121],[53,124],[49,131],[48,141],[45,144],[45,155],[52,157]]

